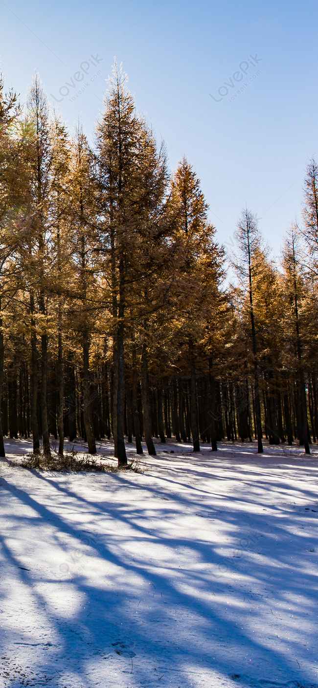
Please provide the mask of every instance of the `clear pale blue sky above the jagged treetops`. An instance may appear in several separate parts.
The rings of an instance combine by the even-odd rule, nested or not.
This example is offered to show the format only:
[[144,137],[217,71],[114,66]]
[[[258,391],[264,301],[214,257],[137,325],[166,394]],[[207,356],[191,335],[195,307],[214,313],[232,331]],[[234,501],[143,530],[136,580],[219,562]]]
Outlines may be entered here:
[[277,253],[318,159],[317,17],[310,0],[0,0],[1,69],[22,100],[36,69],[91,138],[116,56],[171,169],[193,164],[218,239],[247,204]]

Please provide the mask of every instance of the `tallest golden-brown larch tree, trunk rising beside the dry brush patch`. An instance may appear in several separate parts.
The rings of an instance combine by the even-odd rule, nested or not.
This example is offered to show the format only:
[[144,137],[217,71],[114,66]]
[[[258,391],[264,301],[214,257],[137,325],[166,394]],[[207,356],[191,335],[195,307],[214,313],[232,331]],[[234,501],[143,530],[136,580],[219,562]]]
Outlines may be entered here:
[[[105,111],[96,131],[100,252],[108,276],[113,338],[113,428],[114,451],[119,465],[127,464],[124,442],[125,336],[127,299],[140,300],[151,244],[160,236],[153,214],[165,191],[165,155],[157,153],[156,142],[145,120],[136,114],[127,90],[126,76],[118,71],[109,81]],[[156,252],[156,251],[155,251]],[[153,261],[154,262],[154,261]],[[128,324],[128,323],[127,323]],[[147,343],[143,345],[143,380],[147,370]],[[136,411],[136,409],[134,409]],[[145,433],[151,453],[154,447],[147,419],[147,391],[144,397]]]

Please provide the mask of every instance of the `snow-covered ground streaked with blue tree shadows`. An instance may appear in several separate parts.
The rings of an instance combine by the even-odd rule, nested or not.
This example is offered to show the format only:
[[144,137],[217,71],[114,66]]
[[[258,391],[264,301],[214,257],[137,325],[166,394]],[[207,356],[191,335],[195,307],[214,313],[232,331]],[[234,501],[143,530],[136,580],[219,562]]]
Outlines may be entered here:
[[1,461],[1,687],[318,687],[318,449],[156,447],[145,473]]

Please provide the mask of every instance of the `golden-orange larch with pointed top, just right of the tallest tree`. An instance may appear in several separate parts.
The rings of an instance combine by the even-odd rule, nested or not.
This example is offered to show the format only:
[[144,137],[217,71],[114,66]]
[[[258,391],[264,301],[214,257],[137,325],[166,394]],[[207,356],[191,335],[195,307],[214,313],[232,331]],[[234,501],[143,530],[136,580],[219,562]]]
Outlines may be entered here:
[[[215,228],[207,219],[208,204],[200,189],[200,180],[186,158],[173,175],[171,206],[178,221],[176,232],[182,241],[184,259],[180,264],[180,294],[176,325],[178,338],[187,342],[187,363],[190,370],[190,416],[193,451],[200,451],[196,360],[202,340],[204,321],[211,319],[213,304],[219,298],[224,252],[214,241]],[[213,426],[213,411],[211,424]],[[215,438],[212,432],[212,444]]]

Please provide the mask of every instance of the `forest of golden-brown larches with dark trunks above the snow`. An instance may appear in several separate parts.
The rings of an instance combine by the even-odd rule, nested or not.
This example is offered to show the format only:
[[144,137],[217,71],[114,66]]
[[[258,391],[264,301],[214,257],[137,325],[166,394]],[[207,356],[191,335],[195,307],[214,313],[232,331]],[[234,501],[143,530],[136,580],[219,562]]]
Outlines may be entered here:
[[[88,453],[114,440],[318,438],[318,167],[279,259],[257,215],[231,257],[187,158],[169,171],[115,65],[94,136],[70,133],[35,76],[24,106],[0,83],[0,455]],[[240,208],[238,208],[238,213]],[[144,445],[145,447],[145,445]]]

